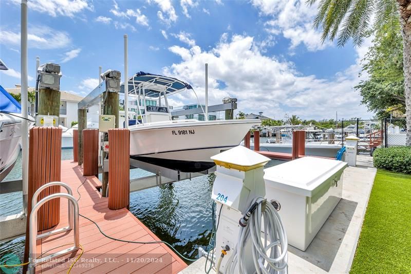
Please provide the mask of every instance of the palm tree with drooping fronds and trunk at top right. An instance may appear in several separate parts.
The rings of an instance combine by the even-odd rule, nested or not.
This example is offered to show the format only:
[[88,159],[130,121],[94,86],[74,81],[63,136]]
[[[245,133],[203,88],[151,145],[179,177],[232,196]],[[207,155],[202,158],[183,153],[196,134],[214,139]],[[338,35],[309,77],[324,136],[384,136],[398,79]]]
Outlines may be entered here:
[[316,2],[319,2],[319,6],[314,26],[323,28],[323,42],[337,38],[337,44],[341,47],[352,38],[354,45],[361,45],[364,37],[370,33],[372,15],[375,15],[373,29],[386,29],[387,35],[401,30],[406,145],[411,145],[411,0],[307,0],[308,5]]

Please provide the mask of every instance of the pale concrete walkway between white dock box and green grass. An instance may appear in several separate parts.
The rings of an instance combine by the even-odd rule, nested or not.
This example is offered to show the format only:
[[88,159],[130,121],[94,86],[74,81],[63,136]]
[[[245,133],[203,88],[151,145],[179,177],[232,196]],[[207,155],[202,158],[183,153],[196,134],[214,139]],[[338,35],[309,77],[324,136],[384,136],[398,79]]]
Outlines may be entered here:
[[[358,155],[357,163],[357,167],[344,171],[343,198],[307,250],[288,246],[290,274],[349,272],[377,173],[372,157]],[[201,258],[180,273],[204,273],[205,262],[206,259]]]

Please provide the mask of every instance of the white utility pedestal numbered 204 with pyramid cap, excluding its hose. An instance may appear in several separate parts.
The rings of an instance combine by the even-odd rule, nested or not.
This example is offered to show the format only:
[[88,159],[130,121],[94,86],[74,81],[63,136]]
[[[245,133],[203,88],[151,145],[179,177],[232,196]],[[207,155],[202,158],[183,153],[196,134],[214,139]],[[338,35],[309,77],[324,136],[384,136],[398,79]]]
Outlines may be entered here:
[[[218,261],[221,250],[227,252],[218,265],[219,272],[225,273],[238,242],[239,220],[247,213],[255,197],[266,195],[264,165],[270,159],[242,146],[222,152],[211,159],[217,166],[211,194],[211,198],[217,203],[216,260]],[[247,272],[254,273],[250,241],[242,252],[246,258],[250,258],[246,262]]]

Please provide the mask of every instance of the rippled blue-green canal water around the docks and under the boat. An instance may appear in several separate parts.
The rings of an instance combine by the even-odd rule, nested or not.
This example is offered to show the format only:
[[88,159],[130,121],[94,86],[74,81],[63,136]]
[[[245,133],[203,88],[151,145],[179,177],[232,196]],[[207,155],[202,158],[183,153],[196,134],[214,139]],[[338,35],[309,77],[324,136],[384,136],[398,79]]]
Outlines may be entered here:
[[[62,150],[62,160],[72,159],[72,149]],[[271,160],[266,167],[283,161]],[[150,175],[150,172],[130,170],[130,178]],[[211,232],[210,198],[214,174],[191,180],[130,193],[130,212],[150,228],[162,241],[172,244],[185,257],[195,259],[197,248],[206,248]],[[21,157],[17,159],[7,180],[21,178]],[[0,195],[0,216],[22,211],[22,192]],[[0,244],[0,258],[14,253],[23,258],[24,238]],[[189,263],[189,262],[188,262]]]

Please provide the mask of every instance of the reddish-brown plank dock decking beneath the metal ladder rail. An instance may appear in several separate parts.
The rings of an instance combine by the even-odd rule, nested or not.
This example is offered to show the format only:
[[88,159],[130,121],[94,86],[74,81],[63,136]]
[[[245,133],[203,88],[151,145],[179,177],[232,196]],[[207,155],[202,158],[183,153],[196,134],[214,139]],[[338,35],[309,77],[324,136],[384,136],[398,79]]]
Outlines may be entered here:
[[[61,181],[70,186],[74,198],[79,198],[76,190],[80,186],[80,214],[95,221],[104,233],[126,241],[160,241],[127,209],[108,209],[108,198],[102,197],[96,188],[101,186],[101,182],[95,176],[84,177],[77,162],[65,160],[62,161],[61,167]],[[61,191],[65,192],[64,188]],[[67,200],[63,198],[60,202],[60,214],[59,225],[50,230],[68,225]],[[111,240],[100,233],[95,224],[82,216],[79,221],[80,244],[84,248],[84,253],[70,273],[166,274],[178,273],[187,266],[165,244],[136,244]],[[37,252],[40,254],[52,248],[55,249],[51,252],[56,252],[72,246],[72,243],[73,231],[71,230],[38,240]],[[58,247],[64,244],[67,245]],[[66,254],[51,262],[41,264],[36,267],[36,273],[66,273],[80,253],[81,250],[78,250],[76,253]]]

